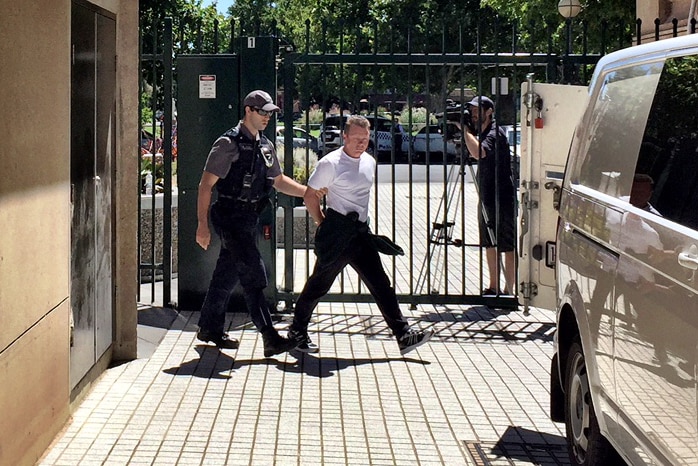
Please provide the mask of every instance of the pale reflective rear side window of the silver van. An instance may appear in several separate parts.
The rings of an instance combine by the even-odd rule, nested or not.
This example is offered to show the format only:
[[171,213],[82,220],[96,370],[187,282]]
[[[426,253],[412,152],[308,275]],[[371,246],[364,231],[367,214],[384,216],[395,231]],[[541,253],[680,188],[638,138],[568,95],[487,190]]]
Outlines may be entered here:
[[630,195],[640,141],[645,131],[662,63],[612,70],[603,77],[588,114],[584,157],[575,162],[572,183],[613,197]]

